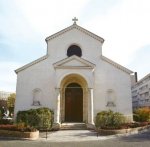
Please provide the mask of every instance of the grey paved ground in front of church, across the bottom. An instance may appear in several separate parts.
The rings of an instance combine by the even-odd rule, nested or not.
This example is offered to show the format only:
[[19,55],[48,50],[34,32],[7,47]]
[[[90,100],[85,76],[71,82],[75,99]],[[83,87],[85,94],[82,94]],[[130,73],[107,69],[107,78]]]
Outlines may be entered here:
[[123,136],[96,136],[88,130],[40,133],[36,141],[0,139],[0,147],[149,147],[150,130]]

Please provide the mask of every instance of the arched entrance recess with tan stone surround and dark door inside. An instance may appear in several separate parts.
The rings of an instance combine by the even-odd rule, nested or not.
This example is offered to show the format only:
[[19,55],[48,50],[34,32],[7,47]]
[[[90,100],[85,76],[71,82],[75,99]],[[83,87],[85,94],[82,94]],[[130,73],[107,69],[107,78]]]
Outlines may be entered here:
[[[79,74],[70,74],[63,78],[63,80],[61,81],[60,88],[61,88],[61,98],[60,98],[61,122],[87,123],[88,122],[88,84],[86,80]],[[76,108],[75,106],[73,106],[72,112],[70,112],[71,114],[66,113],[67,111],[69,111],[66,110],[67,109],[66,97],[69,96],[68,92],[70,92],[71,94],[70,96],[72,97],[72,100],[78,96],[80,97],[79,101],[75,100],[75,102],[73,101],[71,102],[72,105],[76,105],[76,103],[80,105],[79,106],[80,110],[78,112],[74,112]],[[74,115],[74,117],[71,115]]]

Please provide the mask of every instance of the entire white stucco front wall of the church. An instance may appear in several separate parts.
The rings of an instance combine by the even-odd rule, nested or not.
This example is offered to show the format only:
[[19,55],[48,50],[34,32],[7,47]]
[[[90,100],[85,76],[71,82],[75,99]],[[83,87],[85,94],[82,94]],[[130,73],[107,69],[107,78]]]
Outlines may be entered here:
[[[76,44],[82,49],[82,58],[95,64],[92,69],[54,69],[53,64],[67,58],[67,49]],[[48,58],[36,63],[17,74],[15,114],[19,110],[37,108],[32,106],[36,88],[42,90],[41,106],[56,111],[55,88],[65,75],[81,74],[89,88],[94,89],[94,115],[106,110],[106,92],[113,89],[116,93],[116,110],[132,114],[130,75],[101,59],[102,43],[91,36],[72,29],[48,41]]]

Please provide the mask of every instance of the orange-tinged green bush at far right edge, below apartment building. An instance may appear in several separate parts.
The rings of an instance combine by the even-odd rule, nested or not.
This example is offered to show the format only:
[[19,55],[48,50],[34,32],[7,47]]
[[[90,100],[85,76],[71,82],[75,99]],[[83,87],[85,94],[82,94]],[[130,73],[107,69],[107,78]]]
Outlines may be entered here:
[[134,111],[134,121],[146,122],[150,121],[150,108],[139,108]]

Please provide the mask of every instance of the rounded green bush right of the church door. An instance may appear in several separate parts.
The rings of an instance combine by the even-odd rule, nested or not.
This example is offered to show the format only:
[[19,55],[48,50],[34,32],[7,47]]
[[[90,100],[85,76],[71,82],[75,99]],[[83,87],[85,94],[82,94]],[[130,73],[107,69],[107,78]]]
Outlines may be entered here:
[[125,117],[118,112],[101,111],[97,113],[95,125],[97,128],[119,128],[125,122]]

